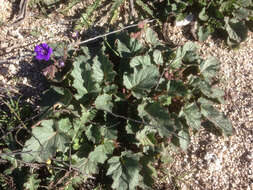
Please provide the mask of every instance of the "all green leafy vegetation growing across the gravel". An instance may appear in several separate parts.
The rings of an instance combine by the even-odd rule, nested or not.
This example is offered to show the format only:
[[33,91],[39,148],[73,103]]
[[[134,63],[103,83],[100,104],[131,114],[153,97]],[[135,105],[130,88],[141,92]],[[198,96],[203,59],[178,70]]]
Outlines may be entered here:
[[[42,2],[30,6],[56,6]],[[65,2],[62,13],[78,2]],[[111,2],[108,23],[118,19],[125,2]],[[234,46],[252,21],[252,2],[246,0],[152,2],[135,1],[140,18],[161,24],[170,14],[193,14],[200,41],[221,30]],[[74,28],[92,26],[104,3],[95,0]],[[36,122],[26,122],[31,107],[19,100],[9,98],[1,110],[3,189],[72,190],[90,180],[93,189],[153,189],[160,169],[155,163],[170,161],[170,147],[187,151],[191,135],[203,127],[232,135],[229,120],[214,107],[224,103],[216,85],[218,58],[204,60],[193,42],[171,49],[146,22],[138,26],[88,45],[49,44],[53,64],[43,73],[51,87],[41,97]]]

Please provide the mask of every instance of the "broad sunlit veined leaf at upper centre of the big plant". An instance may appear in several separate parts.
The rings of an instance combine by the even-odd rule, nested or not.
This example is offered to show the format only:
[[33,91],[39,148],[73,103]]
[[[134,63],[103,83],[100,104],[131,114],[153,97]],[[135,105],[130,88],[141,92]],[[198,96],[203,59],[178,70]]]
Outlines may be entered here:
[[134,73],[131,75],[124,75],[123,83],[127,89],[132,90],[134,97],[142,98],[156,85],[158,78],[157,67],[150,65],[140,70],[134,69]]

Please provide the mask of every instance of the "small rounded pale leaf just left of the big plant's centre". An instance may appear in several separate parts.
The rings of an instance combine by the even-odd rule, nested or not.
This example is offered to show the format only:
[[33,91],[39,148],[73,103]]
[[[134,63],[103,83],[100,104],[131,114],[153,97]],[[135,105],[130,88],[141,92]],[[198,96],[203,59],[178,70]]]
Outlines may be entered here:
[[97,109],[111,112],[113,107],[112,96],[108,94],[98,96],[95,101],[95,106]]

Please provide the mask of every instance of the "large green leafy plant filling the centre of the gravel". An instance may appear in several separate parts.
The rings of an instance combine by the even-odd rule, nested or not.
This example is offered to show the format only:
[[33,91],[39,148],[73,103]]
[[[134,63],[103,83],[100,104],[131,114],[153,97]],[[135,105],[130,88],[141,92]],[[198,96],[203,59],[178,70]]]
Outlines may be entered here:
[[[80,175],[65,189],[94,175],[109,179],[101,181],[107,188],[150,189],[153,164],[166,162],[171,144],[186,151],[190,135],[203,127],[232,134],[213,106],[224,101],[214,85],[218,60],[202,59],[194,43],[172,51],[151,28],[139,32],[110,37],[96,53],[82,46],[68,54],[70,70],[45,91],[24,162],[67,163]],[[26,185],[36,186],[34,178]]]

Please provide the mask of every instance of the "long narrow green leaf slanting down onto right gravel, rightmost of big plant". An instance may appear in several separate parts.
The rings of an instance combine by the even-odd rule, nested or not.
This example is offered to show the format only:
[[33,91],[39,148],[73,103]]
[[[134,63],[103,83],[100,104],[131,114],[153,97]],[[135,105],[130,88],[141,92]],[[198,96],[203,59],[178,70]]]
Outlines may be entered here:
[[224,116],[223,113],[217,111],[211,104],[210,101],[199,98],[199,103],[201,103],[201,113],[211,121],[216,127],[220,128],[223,133],[227,136],[232,135],[233,128],[230,121]]

